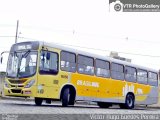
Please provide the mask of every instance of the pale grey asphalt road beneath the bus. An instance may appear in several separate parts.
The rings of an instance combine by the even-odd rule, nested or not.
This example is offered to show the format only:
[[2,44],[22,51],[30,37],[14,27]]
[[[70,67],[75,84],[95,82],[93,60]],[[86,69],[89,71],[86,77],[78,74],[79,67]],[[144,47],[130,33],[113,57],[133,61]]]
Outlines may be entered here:
[[[0,114],[68,114],[69,116],[76,114],[88,114],[89,119],[90,115],[104,114],[158,114],[160,119],[160,108],[156,107],[136,107],[133,110],[120,109],[119,106],[114,106],[112,108],[99,108],[97,105],[91,104],[75,104],[75,106],[62,107],[60,102],[53,102],[52,104],[43,103],[42,106],[35,106],[34,101],[25,101],[25,100],[10,100],[10,99],[0,99]],[[83,116],[83,115],[82,115]],[[80,116],[80,117],[82,117]],[[3,116],[2,116],[3,117]],[[93,117],[93,116],[92,116]],[[1,118],[0,118],[1,119]],[[155,119],[155,118],[154,118]],[[5,120],[5,119],[3,119]],[[19,119],[14,119],[19,120]]]

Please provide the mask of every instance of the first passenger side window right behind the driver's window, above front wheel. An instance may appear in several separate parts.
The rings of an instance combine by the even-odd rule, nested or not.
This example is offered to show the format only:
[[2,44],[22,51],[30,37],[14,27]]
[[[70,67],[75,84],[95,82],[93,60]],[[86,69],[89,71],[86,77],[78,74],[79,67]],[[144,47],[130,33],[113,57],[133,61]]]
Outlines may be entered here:
[[76,72],[76,55],[73,53],[61,52],[61,70]]

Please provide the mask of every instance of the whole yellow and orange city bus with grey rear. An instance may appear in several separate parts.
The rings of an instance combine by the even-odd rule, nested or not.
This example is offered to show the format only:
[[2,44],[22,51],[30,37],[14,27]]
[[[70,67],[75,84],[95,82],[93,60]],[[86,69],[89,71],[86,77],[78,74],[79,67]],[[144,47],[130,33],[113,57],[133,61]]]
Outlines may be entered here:
[[28,41],[12,45],[4,83],[6,96],[33,97],[36,105],[60,100],[113,104],[132,109],[158,102],[157,70],[63,45]]

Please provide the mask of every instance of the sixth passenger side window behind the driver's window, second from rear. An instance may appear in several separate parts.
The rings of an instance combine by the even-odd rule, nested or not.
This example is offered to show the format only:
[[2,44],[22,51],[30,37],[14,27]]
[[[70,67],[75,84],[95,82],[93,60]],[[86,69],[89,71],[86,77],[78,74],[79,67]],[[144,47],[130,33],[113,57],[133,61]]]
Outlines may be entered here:
[[147,84],[147,71],[146,70],[137,70],[137,82],[142,84]]

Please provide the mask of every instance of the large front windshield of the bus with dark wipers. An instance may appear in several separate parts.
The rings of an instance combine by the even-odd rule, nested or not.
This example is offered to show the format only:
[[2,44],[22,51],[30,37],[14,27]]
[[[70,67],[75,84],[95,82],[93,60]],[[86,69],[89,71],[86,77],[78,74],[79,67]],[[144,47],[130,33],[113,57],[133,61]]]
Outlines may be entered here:
[[7,64],[8,77],[30,77],[36,73],[37,52],[15,51],[9,54]]

